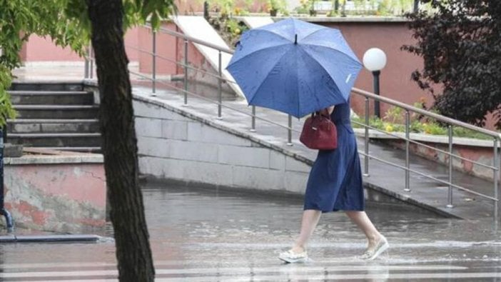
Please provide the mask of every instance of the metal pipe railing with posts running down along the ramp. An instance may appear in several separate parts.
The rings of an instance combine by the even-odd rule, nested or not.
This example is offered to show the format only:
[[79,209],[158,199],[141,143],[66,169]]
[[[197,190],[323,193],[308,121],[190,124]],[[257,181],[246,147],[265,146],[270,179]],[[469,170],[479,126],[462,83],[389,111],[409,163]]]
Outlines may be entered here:
[[[148,29],[151,29],[150,26],[146,26],[146,28]],[[157,33],[160,32],[160,33],[163,33],[163,34],[167,34],[169,36],[174,36],[176,37],[177,39],[181,39],[183,40],[183,61],[176,61],[176,60],[172,60],[172,59],[168,59],[166,57],[163,57],[163,56],[159,56],[157,54],[157,51],[156,51],[156,36],[157,36]],[[151,31],[151,40],[152,40],[152,49],[151,50],[144,50],[144,49],[141,49],[139,48],[138,46],[127,46],[128,48],[131,48],[131,49],[135,49],[143,54],[149,54],[151,55],[151,60],[152,60],[152,69],[151,69],[151,76],[148,76],[148,75],[145,75],[145,74],[141,74],[141,73],[136,73],[136,72],[133,72],[131,71],[131,74],[134,74],[136,76],[140,76],[142,77],[143,79],[148,79],[151,81],[152,83],[152,95],[155,96],[156,95],[156,86],[157,84],[163,84],[173,90],[176,90],[176,91],[179,91],[180,93],[183,94],[184,96],[184,104],[185,105],[188,105],[188,97],[189,96],[195,96],[195,97],[198,97],[199,99],[203,99],[205,101],[207,101],[208,103],[211,103],[211,104],[215,104],[217,105],[218,107],[218,118],[221,119],[222,118],[222,112],[223,112],[223,108],[224,109],[228,109],[228,110],[231,110],[231,111],[236,111],[240,114],[246,114],[250,117],[251,121],[250,121],[250,127],[249,127],[249,130],[250,131],[255,131],[255,126],[256,126],[256,120],[259,120],[259,121],[263,121],[265,123],[268,123],[268,124],[273,124],[274,126],[279,126],[281,129],[285,129],[287,131],[287,136],[288,136],[288,139],[287,139],[287,144],[288,146],[292,146],[293,145],[293,142],[292,142],[292,134],[293,134],[293,131],[295,131],[296,133],[299,133],[299,131],[293,129],[293,124],[292,124],[292,116],[288,116],[288,124],[287,125],[284,125],[284,124],[280,124],[276,121],[272,121],[270,119],[265,119],[263,117],[260,117],[256,114],[256,111],[255,111],[255,106],[252,106],[251,107],[251,113],[248,113],[246,111],[241,111],[240,109],[236,109],[232,106],[228,106],[228,105],[225,105],[223,103],[223,99],[222,99],[222,86],[223,84],[236,84],[235,81],[231,81],[229,79],[226,79],[223,77],[222,75],[222,64],[221,64],[221,56],[223,53],[226,53],[226,54],[233,54],[233,50],[231,49],[226,49],[226,48],[222,48],[221,46],[216,46],[216,45],[213,45],[213,44],[210,44],[206,41],[203,41],[203,40],[200,40],[200,39],[196,39],[196,38],[193,38],[191,36],[186,36],[184,34],[180,34],[176,31],[171,31],[171,30],[168,30],[168,29],[159,29],[158,31]],[[205,71],[203,69],[200,69],[196,66],[191,66],[189,64],[189,58],[188,58],[188,46],[190,44],[200,44],[202,46],[207,46],[211,49],[214,49],[216,51],[218,51],[218,66],[216,67],[216,74],[213,74],[211,72],[208,72],[208,71]],[[178,87],[178,86],[173,86],[171,84],[168,84],[166,83],[165,81],[162,81],[162,80],[159,80],[157,79],[157,69],[156,69],[156,66],[158,64],[158,60],[163,60],[163,61],[168,61],[168,62],[171,62],[173,64],[176,64],[177,66],[181,66],[181,68],[183,68],[183,88],[181,87]],[[201,96],[200,94],[197,94],[197,93],[194,93],[192,91],[188,91],[188,72],[189,71],[199,71],[205,75],[208,75],[208,76],[212,76],[213,78],[216,78],[218,79],[218,99],[216,101],[214,101],[213,99],[208,99],[204,96]],[[86,58],[86,68],[85,68],[85,77],[87,79],[92,79],[93,77],[93,58],[91,56],[91,49],[89,49],[89,52],[88,52],[88,57]],[[375,160],[375,161],[380,161],[382,163],[386,163],[390,166],[395,166],[397,168],[401,168],[405,171],[405,188],[404,188],[404,191],[410,191],[410,173],[416,173],[417,175],[420,175],[420,176],[424,176],[425,178],[429,178],[433,181],[437,181],[439,183],[442,183],[446,186],[448,186],[448,193],[447,193],[447,207],[448,208],[452,208],[453,207],[453,188],[457,188],[459,190],[462,190],[462,191],[466,191],[468,193],[472,193],[476,196],[480,196],[482,198],[486,198],[490,201],[492,201],[494,203],[494,208],[493,208],[493,215],[494,215],[494,219],[497,223],[497,220],[498,218],[500,217],[500,204],[499,204],[499,201],[500,201],[500,192],[499,192],[499,181],[500,181],[500,178],[501,178],[501,157],[500,157],[500,146],[501,146],[501,134],[495,132],[495,131],[489,131],[487,129],[482,129],[480,127],[477,127],[477,126],[472,126],[470,124],[465,124],[461,121],[456,121],[454,119],[450,119],[450,118],[447,118],[445,116],[441,116],[439,114],[435,114],[435,113],[432,113],[430,111],[425,111],[423,109],[419,109],[419,108],[416,108],[414,106],[409,106],[408,104],[403,104],[399,101],[395,101],[395,100],[392,100],[392,99],[388,99],[388,98],[385,98],[384,96],[378,96],[378,95],[375,95],[373,93],[370,93],[368,91],[363,91],[361,89],[352,89],[352,94],[353,95],[356,95],[356,96],[362,96],[363,99],[365,99],[365,123],[360,123],[360,122],[356,122],[356,121],[353,121],[355,124],[358,124],[360,126],[363,126],[363,128],[365,129],[365,134],[364,134],[364,140],[365,140],[365,148],[363,151],[359,151],[360,155],[364,157],[364,161],[363,161],[363,173],[365,174],[365,176],[368,176],[370,174],[370,171],[369,171],[369,162],[370,160]],[[386,103],[386,104],[390,104],[392,106],[395,106],[395,107],[398,107],[400,109],[403,109],[403,111],[405,112],[405,137],[403,136],[399,136],[398,134],[393,134],[391,132],[387,132],[387,131],[383,131],[383,130],[380,130],[380,129],[377,129],[373,126],[370,126],[370,123],[369,123],[369,117],[370,117],[370,113],[369,113],[369,104],[370,104],[370,100],[373,100],[373,101],[379,101],[379,102],[382,102],[382,103]],[[435,119],[436,121],[440,121],[441,123],[443,124],[447,124],[447,128],[448,128],[448,150],[447,151],[444,151],[444,150],[441,150],[440,148],[435,148],[433,146],[429,146],[427,145],[426,143],[423,143],[423,142],[419,142],[419,141],[415,141],[413,139],[410,138],[410,114],[411,113],[415,113],[415,114],[420,114],[422,116],[426,116],[430,119]],[[486,136],[490,136],[490,138],[492,139],[492,151],[493,151],[493,158],[492,158],[492,164],[490,165],[487,165],[485,163],[480,163],[478,161],[474,161],[472,159],[468,159],[468,158],[465,158],[465,157],[462,157],[460,155],[457,155],[455,153],[453,153],[452,149],[453,149],[453,144],[454,144],[454,137],[453,136],[453,132],[452,132],[452,126],[459,126],[459,127],[462,127],[462,128],[465,128],[465,129],[469,129],[471,131],[475,131],[475,132],[478,132],[478,133],[481,133],[481,134],[485,134]],[[405,166],[400,166],[398,164],[395,164],[395,163],[392,163],[390,161],[386,161],[382,158],[378,158],[377,156],[371,156],[370,153],[369,153],[369,148],[370,148],[370,136],[369,136],[369,131],[372,130],[372,131],[378,131],[382,134],[385,134],[385,135],[388,135],[388,136],[392,136],[393,138],[395,139],[398,139],[398,140],[401,140],[401,141],[404,141],[405,142]],[[428,175],[427,173],[422,173],[420,171],[417,171],[413,168],[410,167],[410,144],[413,143],[413,144],[416,144],[417,146],[424,146],[425,148],[430,148],[432,150],[436,150],[437,152],[440,152],[440,153],[444,153],[448,160],[447,160],[447,164],[448,164],[448,180],[445,181],[445,180],[442,180],[442,179],[439,179],[439,178],[436,178],[434,176],[431,176],[431,175]],[[475,164],[477,166],[481,166],[483,168],[487,168],[487,169],[490,169],[492,170],[492,191],[493,191],[493,196],[490,196],[490,195],[487,195],[485,193],[479,193],[477,191],[473,191],[471,189],[468,189],[468,188],[465,188],[463,186],[459,186],[455,183],[453,183],[452,181],[452,171],[453,171],[453,167],[452,167],[452,161],[454,159],[459,159],[461,161],[467,161],[467,162],[470,162],[472,164]]]

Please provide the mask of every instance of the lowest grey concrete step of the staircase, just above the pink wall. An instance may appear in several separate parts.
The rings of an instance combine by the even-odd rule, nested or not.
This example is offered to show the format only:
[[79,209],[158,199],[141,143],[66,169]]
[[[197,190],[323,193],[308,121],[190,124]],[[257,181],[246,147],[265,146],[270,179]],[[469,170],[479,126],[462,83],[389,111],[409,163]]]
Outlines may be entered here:
[[30,147],[98,147],[101,134],[8,134],[7,141]]

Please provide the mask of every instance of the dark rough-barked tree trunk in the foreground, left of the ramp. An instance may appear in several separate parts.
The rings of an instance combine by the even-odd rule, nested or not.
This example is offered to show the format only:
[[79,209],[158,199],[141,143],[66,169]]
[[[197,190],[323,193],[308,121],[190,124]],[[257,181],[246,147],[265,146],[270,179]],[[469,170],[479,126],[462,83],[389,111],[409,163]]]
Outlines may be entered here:
[[104,168],[120,281],[153,281],[138,159],[131,81],[123,44],[122,0],[86,0],[101,106]]

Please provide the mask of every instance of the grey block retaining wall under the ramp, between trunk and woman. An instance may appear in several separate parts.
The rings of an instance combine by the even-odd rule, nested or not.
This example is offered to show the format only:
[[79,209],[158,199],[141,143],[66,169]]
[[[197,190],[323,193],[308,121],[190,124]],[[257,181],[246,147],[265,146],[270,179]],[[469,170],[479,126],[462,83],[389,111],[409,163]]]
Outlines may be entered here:
[[134,101],[140,172],[183,183],[303,193],[310,166],[260,143]]

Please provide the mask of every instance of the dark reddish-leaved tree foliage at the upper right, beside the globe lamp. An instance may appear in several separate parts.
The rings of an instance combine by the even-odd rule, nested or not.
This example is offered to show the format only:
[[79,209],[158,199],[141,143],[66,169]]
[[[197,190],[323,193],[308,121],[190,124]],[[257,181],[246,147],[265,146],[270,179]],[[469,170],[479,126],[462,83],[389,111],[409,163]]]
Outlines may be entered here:
[[501,1],[431,2],[435,14],[407,14],[417,44],[403,49],[425,63],[413,79],[434,96],[440,114],[484,126],[493,113],[501,129]]

